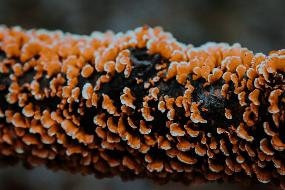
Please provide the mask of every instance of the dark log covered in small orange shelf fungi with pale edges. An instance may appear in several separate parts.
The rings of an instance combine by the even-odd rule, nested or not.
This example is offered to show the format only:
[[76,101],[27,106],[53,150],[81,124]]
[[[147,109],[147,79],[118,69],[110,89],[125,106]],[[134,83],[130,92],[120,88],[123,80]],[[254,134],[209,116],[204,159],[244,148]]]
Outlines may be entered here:
[[0,163],[285,188],[285,49],[0,28]]

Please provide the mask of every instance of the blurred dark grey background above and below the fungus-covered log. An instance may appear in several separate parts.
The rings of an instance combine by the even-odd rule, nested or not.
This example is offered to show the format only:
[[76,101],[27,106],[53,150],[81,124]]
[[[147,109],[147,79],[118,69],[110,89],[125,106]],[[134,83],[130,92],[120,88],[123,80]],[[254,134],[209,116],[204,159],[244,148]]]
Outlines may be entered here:
[[[89,35],[94,30],[126,32],[148,24],[162,26],[180,42],[200,46],[208,41],[239,42],[254,53],[268,54],[285,48],[285,1],[91,1],[0,0],[0,24],[24,29],[46,28]],[[21,164],[0,169],[0,189],[280,189],[268,185],[206,183],[185,187],[169,183],[156,186],[150,180],[123,182],[119,177],[25,170]]]

